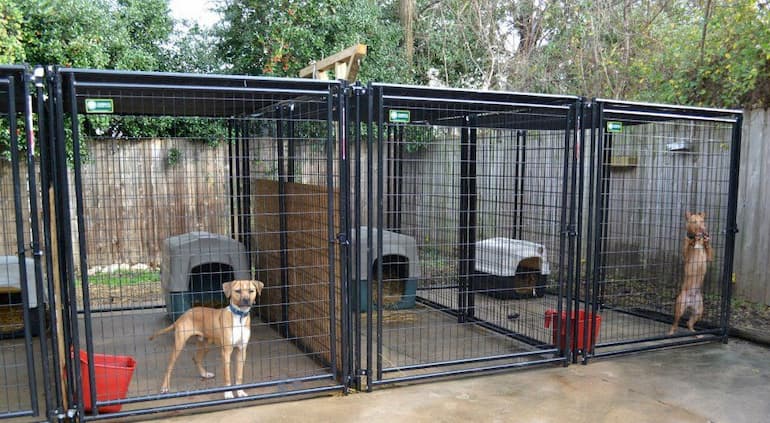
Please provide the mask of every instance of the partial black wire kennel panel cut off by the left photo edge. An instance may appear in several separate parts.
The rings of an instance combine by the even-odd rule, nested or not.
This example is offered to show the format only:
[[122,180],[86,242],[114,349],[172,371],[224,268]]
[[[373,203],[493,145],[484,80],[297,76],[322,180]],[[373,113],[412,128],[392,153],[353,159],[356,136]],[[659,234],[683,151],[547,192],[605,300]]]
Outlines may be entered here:
[[26,67],[0,67],[0,418],[40,419],[49,399],[31,87]]

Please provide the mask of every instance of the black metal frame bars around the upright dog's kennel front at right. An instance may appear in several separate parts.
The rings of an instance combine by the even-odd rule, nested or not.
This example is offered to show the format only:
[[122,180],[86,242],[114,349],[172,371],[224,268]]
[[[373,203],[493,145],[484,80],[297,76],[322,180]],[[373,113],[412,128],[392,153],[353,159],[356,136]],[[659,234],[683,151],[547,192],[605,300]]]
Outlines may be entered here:
[[[741,148],[741,127],[743,121],[743,112],[732,109],[717,109],[704,107],[687,107],[656,103],[630,102],[607,99],[594,99],[589,105],[591,120],[590,139],[591,139],[591,158],[590,176],[589,176],[589,226],[588,226],[588,260],[585,268],[586,278],[592,288],[591,292],[586,290],[582,298],[586,310],[592,312],[593,318],[589,320],[590,331],[584,333],[583,345],[589,345],[588,334],[595,333],[597,327],[597,313],[602,303],[605,279],[603,274],[604,252],[608,251],[604,238],[607,210],[609,209],[610,184],[610,163],[612,155],[613,134],[607,129],[607,122],[618,120],[629,124],[629,126],[644,125],[658,122],[668,122],[673,120],[684,120],[704,123],[724,123],[731,125],[730,133],[730,151],[729,151],[729,169],[728,169],[728,193],[726,205],[726,217],[724,221],[723,234],[725,235],[724,257],[722,261],[722,273],[720,281],[720,317],[719,325],[715,328],[706,328],[697,330],[699,335],[709,335],[706,338],[686,339],[689,334],[675,334],[672,336],[645,336],[637,339],[627,339],[622,341],[598,342],[593,349],[584,351],[575,350],[579,354],[583,364],[587,364],[591,358],[609,357],[627,353],[649,351],[671,346],[700,344],[709,341],[719,341],[727,343],[729,334],[729,313],[730,302],[732,298],[731,275],[733,269],[733,260],[735,252],[735,235],[738,233],[737,217],[737,198],[738,198],[738,172],[740,165]],[[634,123],[633,119],[646,119]],[[630,122],[629,122],[630,121]],[[591,294],[592,293],[592,294]],[[581,298],[576,299],[576,306],[579,308]],[[629,315],[636,315],[631,311],[621,311]],[[641,316],[650,319],[650,316]],[[654,318],[664,323],[670,323],[669,319]],[[651,344],[652,343],[652,344]],[[629,346],[629,348],[623,348]],[[620,349],[597,352],[603,347],[621,347]]]

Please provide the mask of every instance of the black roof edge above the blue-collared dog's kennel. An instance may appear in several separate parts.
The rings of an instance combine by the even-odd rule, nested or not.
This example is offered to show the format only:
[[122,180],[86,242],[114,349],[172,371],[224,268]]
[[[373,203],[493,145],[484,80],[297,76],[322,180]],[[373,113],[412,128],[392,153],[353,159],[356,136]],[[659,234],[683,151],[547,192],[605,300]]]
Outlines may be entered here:
[[[323,100],[338,81],[242,75],[58,69],[62,92],[69,99],[74,87],[77,110],[86,98],[114,101],[115,115],[234,117],[273,113],[270,106],[293,104],[297,114],[327,116]],[[149,101],[151,100],[151,101]],[[308,107],[316,104],[316,107]],[[301,108],[305,107],[305,110]],[[312,109],[312,112],[307,110]],[[65,101],[65,110],[72,105]]]

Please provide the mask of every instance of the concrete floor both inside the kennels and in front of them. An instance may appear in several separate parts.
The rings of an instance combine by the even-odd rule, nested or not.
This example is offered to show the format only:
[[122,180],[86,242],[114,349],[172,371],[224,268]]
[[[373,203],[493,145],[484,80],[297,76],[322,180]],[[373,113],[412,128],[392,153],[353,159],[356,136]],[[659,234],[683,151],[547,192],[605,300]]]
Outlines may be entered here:
[[[549,306],[547,297],[507,302],[481,297],[477,302],[479,317],[514,331],[521,331],[542,342],[550,340],[551,329],[543,325],[543,313]],[[516,311],[521,317],[508,319],[506,316],[511,311]],[[404,316],[392,317],[396,318],[390,321],[385,319],[383,332],[383,358],[386,367],[398,368],[428,359],[441,361],[458,358],[455,355],[444,357],[441,354],[463,351],[468,354],[495,355],[527,350],[527,345],[475,325],[458,325],[456,319],[424,306],[405,311]],[[603,318],[600,341],[605,338],[612,340],[615,337],[633,339],[634,336],[652,336],[664,334],[668,330],[667,324],[624,314],[605,312]],[[147,336],[166,324],[168,322],[162,310],[107,313],[94,317],[94,330],[99,334],[96,337],[98,342],[95,344],[98,345],[95,345],[95,350],[104,353],[129,352],[139,363],[130,385],[129,397],[157,393],[172,339],[166,336],[148,343]],[[254,345],[249,348],[251,364],[245,374],[247,381],[259,382],[323,372],[316,362],[267,326],[256,322],[253,331]],[[440,342],[437,342],[438,340]],[[458,342],[467,343],[469,340],[472,341],[472,350],[455,345]],[[7,342],[0,343],[0,347]],[[10,351],[3,356],[10,354]],[[13,351],[19,356],[18,360],[23,359],[23,355],[20,355],[23,354],[23,349],[17,348]],[[536,349],[532,352],[535,353],[531,356],[533,358],[545,358],[538,354]],[[185,354],[189,355],[189,351]],[[216,353],[210,355],[210,365],[216,368]],[[180,363],[189,364],[189,357],[180,358]],[[292,414],[294,410],[306,412],[307,406],[310,405],[314,410],[312,421],[348,420],[351,417],[373,421],[391,421],[399,417],[407,421],[431,422],[451,422],[468,418],[476,421],[559,423],[617,421],[621,418],[633,419],[634,422],[770,421],[765,418],[770,416],[770,407],[764,405],[764,399],[770,398],[768,363],[770,350],[767,348],[742,341],[732,341],[728,345],[709,343],[594,360],[588,366],[545,366],[495,376],[477,376],[452,381],[436,379],[431,383],[379,388],[373,393],[346,397],[335,395],[331,398],[327,396],[299,402],[296,398],[286,398],[282,400],[284,402],[277,404],[239,404],[239,410],[250,411],[244,412],[245,414],[241,414],[242,411],[227,413],[238,414],[236,421],[254,421],[250,417],[252,415],[259,416],[257,420],[260,421],[295,421],[303,414]],[[476,367],[476,364],[458,368],[463,366]],[[19,369],[23,370],[22,367]],[[412,373],[423,372],[416,370]],[[385,379],[391,375],[398,377],[402,374],[388,373]],[[195,373],[194,366],[190,365],[177,366],[172,380],[173,388],[182,391],[212,388],[219,386],[220,382],[221,379],[201,380]],[[319,386],[329,383],[321,381]],[[28,397],[28,393],[22,395],[24,387],[21,388],[19,397]],[[252,389],[249,392],[255,395],[283,392],[285,389],[285,386],[274,386]],[[156,401],[150,406],[178,404],[180,401],[215,400],[220,398],[220,395]],[[16,398],[16,395],[13,398]],[[0,396],[0,409],[6,409],[10,402],[14,402],[13,398]],[[394,407],[393,404],[398,406]],[[147,406],[145,403],[127,404],[123,409],[128,411]],[[753,410],[757,412],[747,414],[753,413]],[[204,410],[190,409],[179,414],[187,416],[202,411]],[[666,413],[666,416],[670,417],[645,420],[648,416],[655,415],[653,411]],[[262,413],[265,413],[264,416]],[[640,414],[636,416],[633,413]],[[690,415],[695,418],[688,420]],[[762,417],[754,418],[758,416]],[[214,414],[203,417],[206,420],[197,421],[221,417],[224,416]],[[584,417],[585,420],[581,420]],[[185,417],[190,418],[196,419],[198,416]]]

